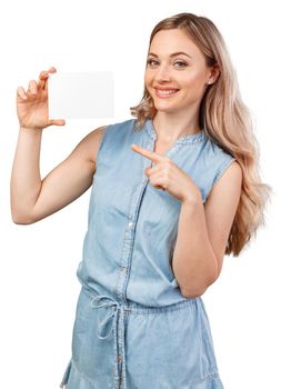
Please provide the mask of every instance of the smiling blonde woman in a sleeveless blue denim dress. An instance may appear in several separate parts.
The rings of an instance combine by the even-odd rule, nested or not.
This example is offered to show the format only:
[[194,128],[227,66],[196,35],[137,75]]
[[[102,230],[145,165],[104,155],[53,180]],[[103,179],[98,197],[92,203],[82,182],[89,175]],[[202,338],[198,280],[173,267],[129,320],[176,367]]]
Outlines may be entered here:
[[[12,218],[32,223],[93,182],[68,389],[221,389],[201,296],[258,227],[270,187],[225,44],[192,13],[153,29],[136,119],[91,131],[42,181],[48,77],[18,88]],[[94,176],[94,178],[93,178]]]

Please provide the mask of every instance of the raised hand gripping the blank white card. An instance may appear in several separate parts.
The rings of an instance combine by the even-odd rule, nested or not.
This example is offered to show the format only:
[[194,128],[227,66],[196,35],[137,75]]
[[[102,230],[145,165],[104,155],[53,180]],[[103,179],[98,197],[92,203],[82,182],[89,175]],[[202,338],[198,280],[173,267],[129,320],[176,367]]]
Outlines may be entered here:
[[21,128],[40,130],[49,126],[64,126],[63,119],[49,119],[48,78],[56,68],[41,71],[38,82],[31,80],[27,92],[22,87],[17,89],[17,113]]

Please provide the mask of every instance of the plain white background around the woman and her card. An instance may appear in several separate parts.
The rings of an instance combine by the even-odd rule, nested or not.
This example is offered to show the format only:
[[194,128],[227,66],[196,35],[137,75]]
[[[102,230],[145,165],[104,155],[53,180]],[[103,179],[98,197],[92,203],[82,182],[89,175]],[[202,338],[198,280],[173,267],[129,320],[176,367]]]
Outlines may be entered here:
[[[239,258],[225,257],[203,295],[225,389],[281,387],[280,378],[280,13],[278,1],[9,1],[0,6],[0,387],[59,388],[71,352],[80,285],[76,270],[90,190],[60,212],[18,226],[10,174],[18,138],[16,90],[41,70],[113,70],[116,117],[69,120],[43,131],[41,177],[90,130],[130,119],[143,90],[152,28],[193,12],[214,21],[229,47],[260,143],[261,174],[273,187],[267,227]],[[279,200],[279,201],[278,201]],[[104,388],[107,389],[107,388]],[[140,388],[147,389],[147,388]],[[180,389],[180,388],[179,388]]]

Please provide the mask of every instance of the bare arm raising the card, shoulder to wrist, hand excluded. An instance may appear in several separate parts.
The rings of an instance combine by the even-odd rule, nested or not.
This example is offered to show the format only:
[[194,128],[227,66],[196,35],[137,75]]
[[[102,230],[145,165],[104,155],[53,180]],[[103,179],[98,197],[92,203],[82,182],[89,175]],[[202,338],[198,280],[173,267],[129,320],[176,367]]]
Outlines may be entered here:
[[80,197],[92,183],[96,156],[106,127],[88,133],[61,163],[40,177],[42,131],[19,131],[12,173],[11,215],[19,225],[39,221]]

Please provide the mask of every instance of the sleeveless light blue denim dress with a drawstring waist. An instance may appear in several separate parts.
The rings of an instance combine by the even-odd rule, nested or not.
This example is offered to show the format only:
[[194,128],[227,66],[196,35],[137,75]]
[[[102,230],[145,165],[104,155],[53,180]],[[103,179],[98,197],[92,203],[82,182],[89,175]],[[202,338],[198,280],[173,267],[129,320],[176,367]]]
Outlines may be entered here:
[[[148,119],[109,124],[97,156],[67,389],[223,389],[201,297],[184,298],[172,271],[181,202],[154,188]],[[205,199],[234,158],[207,133],[179,138],[165,152]]]

